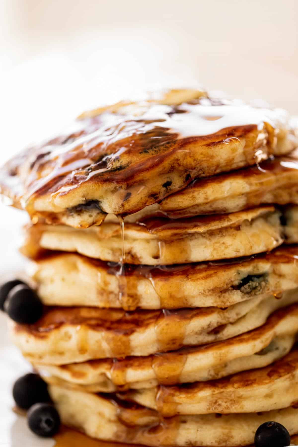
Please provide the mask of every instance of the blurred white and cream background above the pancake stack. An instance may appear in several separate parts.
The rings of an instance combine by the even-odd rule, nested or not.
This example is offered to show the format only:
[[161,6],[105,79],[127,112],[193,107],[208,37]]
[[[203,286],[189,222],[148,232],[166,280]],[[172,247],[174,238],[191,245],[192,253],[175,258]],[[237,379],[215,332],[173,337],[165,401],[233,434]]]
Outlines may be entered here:
[[297,0],[0,0],[0,161],[83,109],[201,83],[298,113]]

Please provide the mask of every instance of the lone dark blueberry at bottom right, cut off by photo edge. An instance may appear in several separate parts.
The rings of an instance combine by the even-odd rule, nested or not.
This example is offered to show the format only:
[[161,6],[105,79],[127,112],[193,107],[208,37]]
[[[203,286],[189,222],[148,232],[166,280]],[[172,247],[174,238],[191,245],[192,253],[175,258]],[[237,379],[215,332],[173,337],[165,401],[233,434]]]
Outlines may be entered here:
[[291,443],[288,430],[278,422],[264,422],[256,430],[256,447],[286,447]]

